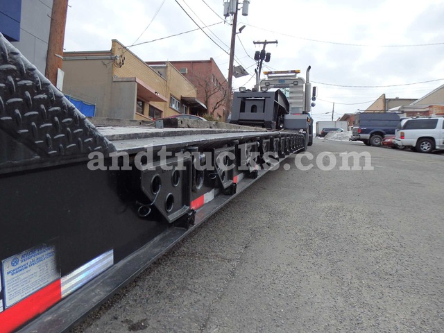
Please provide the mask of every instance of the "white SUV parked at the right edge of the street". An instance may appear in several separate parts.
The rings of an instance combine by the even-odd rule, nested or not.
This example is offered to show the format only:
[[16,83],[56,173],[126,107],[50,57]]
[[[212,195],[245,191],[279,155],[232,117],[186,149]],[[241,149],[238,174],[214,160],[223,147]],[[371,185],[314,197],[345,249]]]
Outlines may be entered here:
[[444,118],[406,119],[396,130],[395,144],[410,147],[412,151],[432,153],[434,149],[444,149]]

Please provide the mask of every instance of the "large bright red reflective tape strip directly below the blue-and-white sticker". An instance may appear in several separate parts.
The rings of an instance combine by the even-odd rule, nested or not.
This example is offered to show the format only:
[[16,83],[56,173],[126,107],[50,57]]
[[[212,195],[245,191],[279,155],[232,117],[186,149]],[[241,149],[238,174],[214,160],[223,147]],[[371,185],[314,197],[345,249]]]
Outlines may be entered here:
[[9,333],[62,299],[60,279],[0,312],[0,333]]

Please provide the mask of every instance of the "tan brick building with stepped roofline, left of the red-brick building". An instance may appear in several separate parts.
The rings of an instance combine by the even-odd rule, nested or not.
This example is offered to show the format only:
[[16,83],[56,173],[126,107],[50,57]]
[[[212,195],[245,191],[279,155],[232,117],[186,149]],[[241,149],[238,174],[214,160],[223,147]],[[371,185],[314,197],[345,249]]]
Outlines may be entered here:
[[151,120],[189,113],[197,90],[178,70],[152,69],[112,40],[110,51],[65,52],[63,93],[96,105],[95,117]]

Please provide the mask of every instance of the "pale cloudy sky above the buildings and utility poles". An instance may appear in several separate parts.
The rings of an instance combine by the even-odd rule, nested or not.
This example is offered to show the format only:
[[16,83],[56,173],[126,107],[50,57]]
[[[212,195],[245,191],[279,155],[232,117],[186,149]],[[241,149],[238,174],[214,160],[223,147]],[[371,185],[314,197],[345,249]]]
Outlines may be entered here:
[[[108,50],[111,40],[143,60],[214,58],[225,76],[232,19],[224,0],[71,0],[65,51]],[[242,2],[242,1],[240,1]],[[318,87],[315,121],[366,110],[381,94],[418,99],[444,84],[442,0],[250,0],[239,18],[234,65],[250,73],[233,88],[255,83],[253,59],[268,44],[264,70],[311,65]],[[207,28],[204,28],[207,26]],[[200,28],[202,28],[202,30]],[[204,33],[205,32],[205,33]],[[265,63],[264,63],[265,64]]]

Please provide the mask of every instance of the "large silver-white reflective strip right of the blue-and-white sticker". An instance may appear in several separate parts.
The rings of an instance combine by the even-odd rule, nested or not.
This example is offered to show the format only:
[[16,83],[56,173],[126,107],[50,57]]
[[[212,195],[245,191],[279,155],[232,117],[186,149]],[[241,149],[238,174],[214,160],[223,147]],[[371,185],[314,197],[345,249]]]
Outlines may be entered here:
[[62,277],[62,298],[76,291],[114,264],[114,251],[109,250]]

